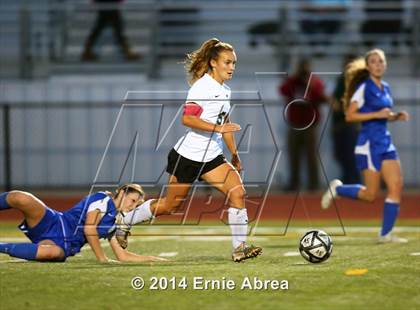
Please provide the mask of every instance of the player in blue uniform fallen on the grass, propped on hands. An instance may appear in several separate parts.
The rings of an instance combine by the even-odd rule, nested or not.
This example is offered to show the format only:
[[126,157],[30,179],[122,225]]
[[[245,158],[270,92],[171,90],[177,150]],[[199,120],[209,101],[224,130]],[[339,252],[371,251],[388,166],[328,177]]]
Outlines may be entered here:
[[0,253],[33,261],[64,262],[89,243],[100,262],[112,261],[105,255],[99,239],[108,238],[119,261],[158,261],[153,256],[137,255],[123,249],[113,233],[119,212],[129,212],[144,200],[140,185],[130,183],[109,192],[93,193],[66,212],[47,207],[34,195],[11,191],[0,194],[0,211],[16,209],[23,213],[19,228],[31,243],[0,243]]

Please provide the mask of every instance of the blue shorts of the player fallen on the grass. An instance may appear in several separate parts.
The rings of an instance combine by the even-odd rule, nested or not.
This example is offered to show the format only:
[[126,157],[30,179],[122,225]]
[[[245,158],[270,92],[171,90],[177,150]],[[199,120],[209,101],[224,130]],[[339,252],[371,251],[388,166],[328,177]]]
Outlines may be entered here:
[[61,212],[45,207],[45,215],[35,227],[29,228],[26,221],[23,221],[19,225],[19,229],[35,244],[42,240],[53,241],[63,249],[67,258],[80,252],[81,246],[67,238],[68,229],[66,226]]

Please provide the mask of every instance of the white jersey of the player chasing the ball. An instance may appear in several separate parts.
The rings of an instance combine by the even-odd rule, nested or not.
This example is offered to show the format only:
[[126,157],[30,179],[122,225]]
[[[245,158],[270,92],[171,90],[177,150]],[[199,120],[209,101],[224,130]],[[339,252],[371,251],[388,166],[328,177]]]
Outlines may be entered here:
[[[230,110],[230,88],[218,83],[207,73],[190,88],[186,103],[201,107],[200,119],[221,125]],[[175,144],[174,149],[190,160],[209,162],[223,153],[222,134],[189,128]]]

